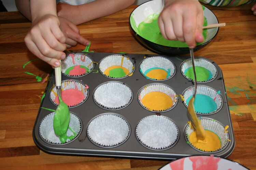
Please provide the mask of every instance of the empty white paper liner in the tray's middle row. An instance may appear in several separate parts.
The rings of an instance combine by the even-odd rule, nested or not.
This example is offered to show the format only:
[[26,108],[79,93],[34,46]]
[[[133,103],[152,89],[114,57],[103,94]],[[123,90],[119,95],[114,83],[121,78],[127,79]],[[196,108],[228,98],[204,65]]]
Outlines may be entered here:
[[99,85],[93,94],[98,106],[116,110],[127,106],[132,101],[132,90],[121,82],[107,82]]

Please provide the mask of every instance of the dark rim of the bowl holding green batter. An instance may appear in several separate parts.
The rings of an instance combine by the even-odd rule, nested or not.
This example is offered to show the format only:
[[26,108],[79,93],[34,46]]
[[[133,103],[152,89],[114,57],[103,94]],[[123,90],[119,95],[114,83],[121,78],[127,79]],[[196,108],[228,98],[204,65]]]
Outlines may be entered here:
[[[135,33],[136,36],[138,35],[141,39],[143,39],[143,41],[145,41],[145,40],[146,40],[146,41],[149,41],[150,43],[152,43],[152,44],[154,44],[154,45],[156,45],[156,46],[162,46],[162,47],[173,48],[173,49],[187,49],[188,47],[170,47],[170,46],[165,46],[165,45],[160,45],[160,44],[154,43],[154,42],[152,42],[152,41],[150,41],[150,40],[147,40],[147,39],[143,38],[142,36],[140,36],[140,35],[132,28],[132,26],[131,26],[131,15],[133,14],[133,12],[134,12],[139,6],[141,6],[141,5],[145,4],[145,3],[149,3],[149,2],[151,2],[151,1],[154,1],[154,0],[150,0],[150,1],[144,2],[144,3],[138,5],[136,8],[134,8],[134,9],[132,10],[132,12],[131,12],[130,15],[129,15],[129,26],[130,26],[131,30]],[[201,5],[202,5],[202,4],[201,4]],[[204,5],[202,5],[202,6],[204,6]],[[204,7],[207,8],[208,10],[210,10],[208,7],[206,7],[206,6],[204,6]],[[210,11],[212,12],[212,10],[210,10]],[[212,13],[213,13],[213,12],[212,12]],[[214,13],[213,13],[213,15],[216,17],[217,23],[219,23],[219,20],[218,20],[217,16],[216,16]],[[213,40],[213,38],[215,38],[215,36],[218,34],[218,32],[219,32],[219,27],[217,27],[217,31],[216,31],[215,35],[214,35],[209,41],[207,41],[207,42],[205,42],[205,43],[203,43],[203,44],[197,45],[195,48],[199,48],[199,47],[201,47],[201,46],[204,46],[204,45],[210,43],[210,42]]]

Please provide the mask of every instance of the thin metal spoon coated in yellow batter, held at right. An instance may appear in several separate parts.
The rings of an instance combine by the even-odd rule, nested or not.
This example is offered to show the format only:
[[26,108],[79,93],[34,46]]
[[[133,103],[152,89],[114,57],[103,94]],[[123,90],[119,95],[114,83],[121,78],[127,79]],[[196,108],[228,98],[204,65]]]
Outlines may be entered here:
[[194,101],[195,101],[196,91],[197,91],[196,70],[195,70],[195,64],[194,64],[194,52],[193,52],[193,49],[191,49],[191,48],[189,48],[189,51],[190,51],[191,62],[192,62],[194,77],[195,77],[195,90],[194,90],[194,95],[188,102],[187,116],[188,116],[188,120],[190,120],[191,124],[193,125],[193,127],[196,131],[197,139],[204,141],[206,133],[203,129],[201,122],[197,118],[195,107],[194,107]]

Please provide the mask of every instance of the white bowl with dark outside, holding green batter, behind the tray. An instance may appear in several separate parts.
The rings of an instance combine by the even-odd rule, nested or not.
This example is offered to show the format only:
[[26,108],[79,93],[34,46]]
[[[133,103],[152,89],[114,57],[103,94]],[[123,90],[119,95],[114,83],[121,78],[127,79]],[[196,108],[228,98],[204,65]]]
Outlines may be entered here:
[[[218,23],[217,17],[214,13],[209,10],[207,7],[203,7],[204,14],[204,26],[209,24]],[[161,13],[163,9],[162,0],[151,0],[147,1],[138,7],[136,7],[130,14],[129,24],[132,30],[133,35],[148,49],[155,53],[167,54],[167,55],[179,55],[189,53],[189,48],[186,43],[182,43],[180,41],[166,40],[161,36],[159,28],[156,27],[152,29],[152,27],[144,27],[143,23],[157,23],[158,15]],[[141,24],[140,24],[141,23]],[[139,25],[140,24],[140,25]],[[145,33],[145,31],[141,31],[141,28],[146,28],[147,35],[141,35]],[[150,29],[148,29],[150,28]],[[210,41],[217,35],[219,28],[212,29],[204,29],[204,41],[202,43],[197,43],[197,46],[194,48],[194,51],[203,48],[205,45],[209,44]],[[149,31],[151,31],[149,33]],[[155,43],[151,39],[152,36],[160,36],[160,41]],[[146,37],[145,37],[146,36]],[[168,44],[167,44],[168,43]]]

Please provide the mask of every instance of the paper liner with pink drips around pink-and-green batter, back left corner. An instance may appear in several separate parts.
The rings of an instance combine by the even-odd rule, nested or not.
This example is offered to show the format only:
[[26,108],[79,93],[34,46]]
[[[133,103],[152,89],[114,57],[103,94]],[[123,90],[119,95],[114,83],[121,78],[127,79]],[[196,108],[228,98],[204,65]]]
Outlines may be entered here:
[[[91,59],[89,56],[83,53],[71,53],[68,54],[67,57],[61,62],[61,72],[68,76],[68,77],[81,77],[86,74],[89,74],[91,70],[94,68],[94,63],[93,59]],[[89,70],[87,70],[86,73],[81,74],[81,75],[69,75],[66,74],[66,70],[72,66],[85,66]]]

